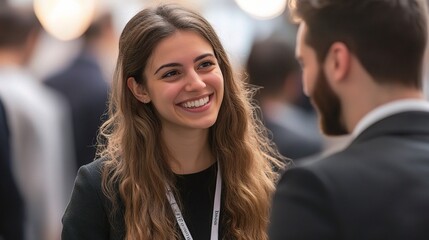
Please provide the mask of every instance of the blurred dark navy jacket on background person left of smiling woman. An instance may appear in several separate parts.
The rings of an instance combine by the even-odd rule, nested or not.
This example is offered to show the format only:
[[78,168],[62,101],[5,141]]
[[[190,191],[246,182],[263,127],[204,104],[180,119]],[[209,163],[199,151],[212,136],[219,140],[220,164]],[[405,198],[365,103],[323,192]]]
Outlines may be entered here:
[[109,85],[90,50],[83,50],[63,71],[45,80],[71,108],[77,169],[94,160],[98,128],[107,109]]

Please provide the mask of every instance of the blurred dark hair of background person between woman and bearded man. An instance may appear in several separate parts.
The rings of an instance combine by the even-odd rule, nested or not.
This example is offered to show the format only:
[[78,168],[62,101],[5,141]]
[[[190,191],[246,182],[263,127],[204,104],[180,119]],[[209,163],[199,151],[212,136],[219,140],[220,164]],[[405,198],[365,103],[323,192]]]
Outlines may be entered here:
[[293,47],[276,38],[253,43],[246,69],[250,83],[263,87],[267,94],[278,92],[288,75],[300,71]]

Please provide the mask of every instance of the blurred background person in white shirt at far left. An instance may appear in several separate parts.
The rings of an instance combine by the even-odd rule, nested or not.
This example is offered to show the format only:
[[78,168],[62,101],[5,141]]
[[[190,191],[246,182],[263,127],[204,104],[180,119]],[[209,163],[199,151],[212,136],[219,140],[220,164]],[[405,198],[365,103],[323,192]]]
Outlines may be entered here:
[[10,129],[11,166],[25,203],[25,237],[57,240],[72,187],[67,174],[72,143],[66,105],[26,70],[40,30],[32,11],[1,6],[0,97]]

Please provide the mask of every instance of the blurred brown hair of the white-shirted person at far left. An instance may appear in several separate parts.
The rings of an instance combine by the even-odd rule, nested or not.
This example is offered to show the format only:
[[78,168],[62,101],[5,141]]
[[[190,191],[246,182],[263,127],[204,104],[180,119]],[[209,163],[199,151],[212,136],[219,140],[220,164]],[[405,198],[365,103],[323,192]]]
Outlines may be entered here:
[[7,4],[0,6],[0,48],[22,46],[32,31],[40,29],[33,11]]

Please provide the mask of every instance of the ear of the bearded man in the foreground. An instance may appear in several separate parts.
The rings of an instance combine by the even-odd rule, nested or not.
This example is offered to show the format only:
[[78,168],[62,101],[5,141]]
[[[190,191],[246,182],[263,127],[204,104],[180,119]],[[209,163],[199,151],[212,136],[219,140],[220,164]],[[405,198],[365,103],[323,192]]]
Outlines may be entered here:
[[326,55],[324,70],[330,81],[340,82],[344,80],[350,71],[351,53],[342,42],[335,42],[329,48]]

